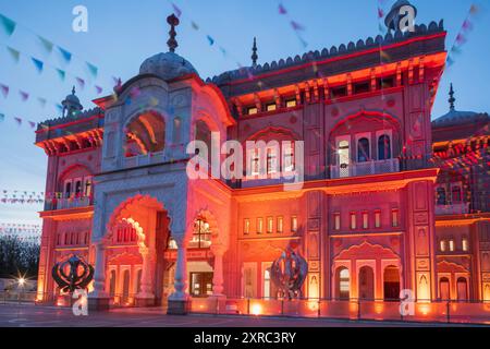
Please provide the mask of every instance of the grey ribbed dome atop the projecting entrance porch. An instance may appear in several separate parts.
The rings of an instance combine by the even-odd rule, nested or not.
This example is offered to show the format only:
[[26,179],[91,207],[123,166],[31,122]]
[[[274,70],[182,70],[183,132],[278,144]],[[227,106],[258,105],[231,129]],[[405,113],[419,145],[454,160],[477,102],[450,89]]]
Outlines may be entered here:
[[197,74],[193,64],[175,52],[155,55],[146,59],[139,68],[139,74],[155,74],[166,81],[192,73]]

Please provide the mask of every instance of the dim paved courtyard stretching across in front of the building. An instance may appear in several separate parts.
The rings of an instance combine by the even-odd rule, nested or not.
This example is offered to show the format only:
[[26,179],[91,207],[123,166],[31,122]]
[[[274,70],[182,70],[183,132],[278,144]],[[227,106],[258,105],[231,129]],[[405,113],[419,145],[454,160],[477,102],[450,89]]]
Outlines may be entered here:
[[445,326],[324,318],[248,317],[224,315],[170,316],[158,309],[118,309],[75,316],[71,309],[33,304],[0,305],[1,327],[365,327]]

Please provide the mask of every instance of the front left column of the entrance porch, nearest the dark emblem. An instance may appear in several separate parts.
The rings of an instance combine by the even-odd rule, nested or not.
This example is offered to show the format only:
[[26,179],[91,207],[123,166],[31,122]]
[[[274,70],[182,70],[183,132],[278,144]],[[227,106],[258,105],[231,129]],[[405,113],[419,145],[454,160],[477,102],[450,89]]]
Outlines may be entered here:
[[102,241],[95,243],[96,265],[94,272],[94,292],[88,296],[88,308],[108,310],[109,294],[106,292],[106,246]]

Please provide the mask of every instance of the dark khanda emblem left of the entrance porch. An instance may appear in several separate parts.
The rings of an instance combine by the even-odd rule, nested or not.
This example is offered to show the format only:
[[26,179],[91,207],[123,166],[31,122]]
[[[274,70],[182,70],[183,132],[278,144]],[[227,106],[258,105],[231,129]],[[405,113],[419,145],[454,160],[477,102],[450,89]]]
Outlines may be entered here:
[[52,278],[63,292],[73,293],[86,289],[94,278],[94,267],[83,258],[74,255],[52,267]]

